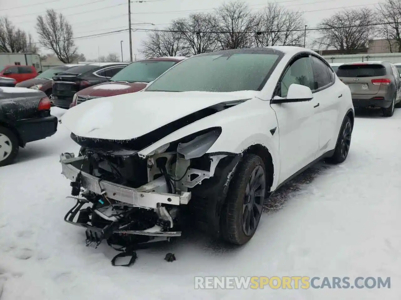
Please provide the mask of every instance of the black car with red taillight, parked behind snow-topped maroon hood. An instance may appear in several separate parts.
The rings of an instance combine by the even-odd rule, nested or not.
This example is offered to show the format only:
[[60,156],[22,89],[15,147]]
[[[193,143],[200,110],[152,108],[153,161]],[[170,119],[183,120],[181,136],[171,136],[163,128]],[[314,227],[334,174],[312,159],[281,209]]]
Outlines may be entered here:
[[53,104],[68,109],[76,92],[107,82],[127,65],[123,62],[83,64],[56,74],[53,77]]

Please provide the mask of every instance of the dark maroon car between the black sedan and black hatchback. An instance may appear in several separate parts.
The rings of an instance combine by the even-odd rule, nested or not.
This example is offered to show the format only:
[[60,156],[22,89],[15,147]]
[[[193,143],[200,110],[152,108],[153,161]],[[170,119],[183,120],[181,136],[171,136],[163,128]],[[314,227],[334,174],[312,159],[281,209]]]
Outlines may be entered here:
[[42,72],[38,76],[32,79],[28,79],[16,84],[16,87],[20,88],[32,88],[34,90],[40,90],[45,92],[45,94],[51,99],[52,93],[52,77],[56,73],[65,72],[65,70],[73,67],[73,66],[81,66],[80,64],[65,64],[63,66],[55,66],[47,69]]

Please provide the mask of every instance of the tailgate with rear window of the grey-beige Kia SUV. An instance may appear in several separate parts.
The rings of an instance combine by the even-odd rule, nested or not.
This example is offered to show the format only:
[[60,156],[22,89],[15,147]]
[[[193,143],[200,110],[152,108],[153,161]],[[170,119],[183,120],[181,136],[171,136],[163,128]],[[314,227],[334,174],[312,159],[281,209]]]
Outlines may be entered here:
[[386,67],[382,64],[345,64],[337,70],[337,76],[348,85],[352,95],[376,95],[381,80],[387,79],[386,75]]

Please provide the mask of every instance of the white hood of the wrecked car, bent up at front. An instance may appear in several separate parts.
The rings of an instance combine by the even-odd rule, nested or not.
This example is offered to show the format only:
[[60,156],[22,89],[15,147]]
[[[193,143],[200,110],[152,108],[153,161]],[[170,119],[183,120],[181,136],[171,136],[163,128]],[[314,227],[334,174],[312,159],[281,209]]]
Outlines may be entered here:
[[131,140],[209,106],[250,99],[258,94],[257,91],[123,94],[74,106],[63,115],[61,123],[73,134],[85,138]]

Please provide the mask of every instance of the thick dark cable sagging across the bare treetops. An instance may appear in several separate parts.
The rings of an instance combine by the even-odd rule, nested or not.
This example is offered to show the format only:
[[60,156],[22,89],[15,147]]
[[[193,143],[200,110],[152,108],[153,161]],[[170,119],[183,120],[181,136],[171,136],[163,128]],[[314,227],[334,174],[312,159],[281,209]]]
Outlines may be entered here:
[[396,22],[386,22],[386,23],[372,23],[363,25],[349,25],[349,26],[329,26],[329,27],[316,27],[316,28],[299,28],[293,30],[254,30],[254,31],[186,31],[186,30],[163,30],[163,29],[144,29],[135,28],[138,31],[153,31],[153,32],[177,32],[177,33],[195,33],[195,34],[225,34],[225,33],[253,33],[253,34],[263,34],[263,33],[275,33],[275,32],[296,32],[296,31],[315,31],[315,30],[328,30],[328,29],[344,29],[344,28],[354,28],[354,27],[368,27],[368,26],[380,26],[380,25],[391,25],[397,24]]

